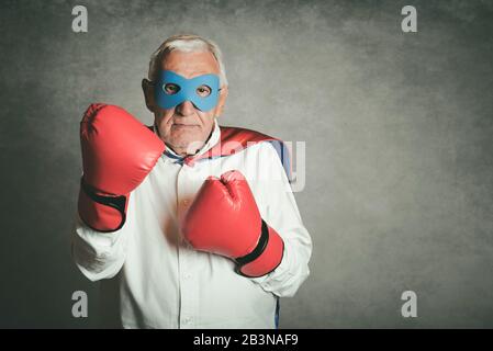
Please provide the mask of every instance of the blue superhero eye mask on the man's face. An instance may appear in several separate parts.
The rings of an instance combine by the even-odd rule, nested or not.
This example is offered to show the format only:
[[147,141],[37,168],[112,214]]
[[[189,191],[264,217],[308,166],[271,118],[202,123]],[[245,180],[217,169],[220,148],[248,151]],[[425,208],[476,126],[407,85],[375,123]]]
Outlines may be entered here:
[[[201,97],[198,88],[208,86],[211,93]],[[216,75],[202,75],[187,79],[170,70],[159,71],[154,88],[156,103],[163,109],[171,109],[184,101],[191,101],[197,109],[208,112],[215,107],[220,97],[220,78]]]

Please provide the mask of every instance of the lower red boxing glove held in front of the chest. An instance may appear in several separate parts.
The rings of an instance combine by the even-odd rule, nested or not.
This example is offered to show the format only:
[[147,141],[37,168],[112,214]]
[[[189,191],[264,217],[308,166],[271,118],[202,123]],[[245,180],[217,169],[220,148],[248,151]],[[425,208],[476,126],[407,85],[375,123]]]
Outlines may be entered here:
[[209,177],[182,220],[193,248],[232,258],[238,274],[257,278],[282,260],[284,242],[260,217],[248,182],[238,171]]

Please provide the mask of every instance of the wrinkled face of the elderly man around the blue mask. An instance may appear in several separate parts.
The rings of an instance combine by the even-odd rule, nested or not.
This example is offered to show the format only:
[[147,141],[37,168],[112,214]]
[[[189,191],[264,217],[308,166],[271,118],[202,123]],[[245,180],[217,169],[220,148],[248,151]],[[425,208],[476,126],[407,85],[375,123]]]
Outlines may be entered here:
[[[209,73],[220,75],[219,64],[209,52],[172,50],[164,59],[161,69],[172,71],[186,79]],[[155,87],[155,89],[160,88],[163,87]],[[179,88],[168,84],[164,89],[166,93],[173,94]],[[195,92],[199,97],[208,97],[211,93],[206,84],[197,87]],[[194,154],[209,138],[214,126],[214,118],[220,115],[224,100],[225,93],[221,91],[219,103],[209,111],[199,110],[189,100],[169,109],[155,103],[154,115],[160,137],[177,154]]]

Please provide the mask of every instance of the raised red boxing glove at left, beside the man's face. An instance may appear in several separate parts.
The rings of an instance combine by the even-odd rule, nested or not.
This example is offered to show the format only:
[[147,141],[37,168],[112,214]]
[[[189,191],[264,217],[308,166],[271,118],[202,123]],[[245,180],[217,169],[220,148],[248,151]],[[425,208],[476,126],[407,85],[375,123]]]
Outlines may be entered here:
[[165,144],[125,110],[91,104],[80,122],[83,176],[80,218],[98,231],[120,229],[128,194],[146,178]]

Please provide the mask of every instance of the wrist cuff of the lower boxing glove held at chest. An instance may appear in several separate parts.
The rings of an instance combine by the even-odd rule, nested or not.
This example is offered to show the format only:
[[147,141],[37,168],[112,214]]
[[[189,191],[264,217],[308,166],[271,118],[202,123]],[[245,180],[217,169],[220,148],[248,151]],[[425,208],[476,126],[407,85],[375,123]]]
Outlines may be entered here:
[[247,278],[266,275],[278,268],[284,253],[284,242],[279,234],[262,219],[261,234],[256,248],[236,258],[236,273]]

